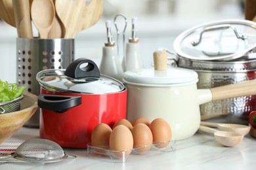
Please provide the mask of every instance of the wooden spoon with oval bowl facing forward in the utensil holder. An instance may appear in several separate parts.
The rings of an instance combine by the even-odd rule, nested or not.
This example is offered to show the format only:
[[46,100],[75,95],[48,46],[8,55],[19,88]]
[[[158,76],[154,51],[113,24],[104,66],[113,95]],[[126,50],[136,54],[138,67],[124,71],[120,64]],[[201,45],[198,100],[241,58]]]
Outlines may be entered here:
[[53,25],[55,8],[51,0],[33,0],[31,16],[35,27],[39,31],[41,39],[47,39],[48,33]]

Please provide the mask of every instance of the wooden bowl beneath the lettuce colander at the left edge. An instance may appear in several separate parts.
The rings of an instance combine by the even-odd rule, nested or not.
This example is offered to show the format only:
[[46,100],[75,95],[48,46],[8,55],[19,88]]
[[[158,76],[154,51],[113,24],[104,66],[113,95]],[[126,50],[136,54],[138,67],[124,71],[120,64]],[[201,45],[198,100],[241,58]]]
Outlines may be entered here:
[[0,114],[0,144],[16,133],[30,119],[37,108],[37,96],[25,92],[20,110]]

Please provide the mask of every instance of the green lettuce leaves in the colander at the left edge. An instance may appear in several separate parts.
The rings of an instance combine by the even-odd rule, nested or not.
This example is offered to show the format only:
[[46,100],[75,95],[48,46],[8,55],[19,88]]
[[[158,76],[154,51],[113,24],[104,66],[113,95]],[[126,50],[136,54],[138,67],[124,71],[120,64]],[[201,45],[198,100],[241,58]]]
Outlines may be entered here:
[[25,86],[18,87],[16,83],[9,84],[7,81],[0,80],[0,103],[20,97],[25,89]]

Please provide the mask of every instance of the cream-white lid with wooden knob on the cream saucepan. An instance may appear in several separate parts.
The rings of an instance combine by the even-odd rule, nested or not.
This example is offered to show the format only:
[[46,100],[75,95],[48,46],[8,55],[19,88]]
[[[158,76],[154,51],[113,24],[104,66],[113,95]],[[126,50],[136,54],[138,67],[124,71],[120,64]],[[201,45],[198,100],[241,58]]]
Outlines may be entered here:
[[[144,86],[176,86],[198,82],[198,74],[195,71],[178,67],[166,68],[167,52],[154,52],[155,57],[157,59],[154,59],[154,68],[126,71],[124,82]],[[159,59],[164,59],[164,61]]]

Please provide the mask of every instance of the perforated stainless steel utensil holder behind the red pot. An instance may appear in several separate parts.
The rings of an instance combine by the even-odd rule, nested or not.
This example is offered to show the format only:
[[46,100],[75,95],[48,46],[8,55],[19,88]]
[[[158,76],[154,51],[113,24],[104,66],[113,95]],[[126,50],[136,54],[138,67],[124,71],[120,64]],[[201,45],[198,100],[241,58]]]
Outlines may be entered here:
[[[43,69],[66,69],[74,61],[74,39],[16,39],[16,80],[39,95],[36,75]],[[24,126],[39,127],[39,110]]]

